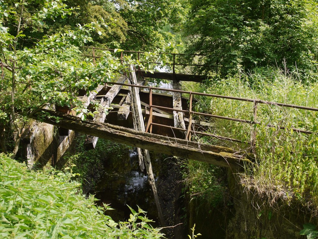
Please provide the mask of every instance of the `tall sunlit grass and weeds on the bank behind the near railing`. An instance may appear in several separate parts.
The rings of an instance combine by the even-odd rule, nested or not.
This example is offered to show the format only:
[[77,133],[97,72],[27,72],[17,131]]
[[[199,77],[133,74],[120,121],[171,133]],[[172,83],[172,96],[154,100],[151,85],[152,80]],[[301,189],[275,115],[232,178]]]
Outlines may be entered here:
[[[317,76],[318,77],[318,76]],[[206,85],[184,83],[184,89],[211,94],[262,99],[279,103],[317,107],[318,83],[302,83],[283,70],[258,69],[219,79]],[[253,103],[230,99],[198,97],[197,110],[211,114],[254,120]],[[255,162],[245,165],[242,180],[272,199],[296,198],[301,203],[318,206],[318,137],[297,133],[293,128],[317,133],[317,112],[258,104],[257,121],[251,126],[219,119],[208,121],[204,130],[213,134],[251,141],[256,132]],[[275,127],[268,127],[270,124]],[[285,127],[279,129],[277,126]],[[221,141],[203,137],[200,140],[224,144],[238,151],[251,151],[247,143]]]

